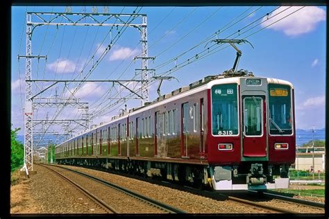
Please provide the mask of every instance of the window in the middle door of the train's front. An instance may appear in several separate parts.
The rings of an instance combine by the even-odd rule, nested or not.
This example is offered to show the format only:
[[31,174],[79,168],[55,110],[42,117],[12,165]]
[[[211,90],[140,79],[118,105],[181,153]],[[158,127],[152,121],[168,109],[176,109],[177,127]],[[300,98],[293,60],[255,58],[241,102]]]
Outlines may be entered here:
[[244,134],[262,135],[262,98],[248,96],[244,98]]

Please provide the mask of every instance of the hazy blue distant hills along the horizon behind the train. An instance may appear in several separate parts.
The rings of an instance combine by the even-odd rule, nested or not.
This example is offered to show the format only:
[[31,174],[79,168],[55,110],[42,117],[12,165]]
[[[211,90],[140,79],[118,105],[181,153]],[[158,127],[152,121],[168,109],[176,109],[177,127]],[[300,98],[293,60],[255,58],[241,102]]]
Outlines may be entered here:
[[[44,137],[45,139],[53,139],[56,140],[56,136],[53,135],[46,135]],[[17,136],[18,141],[21,141],[24,143],[24,136],[18,135]],[[326,139],[326,128],[323,128],[321,130],[314,130],[314,140],[325,140]],[[307,143],[308,141],[312,140],[312,130],[302,130],[297,129],[296,130],[296,145],[301,146],[304,143]]]

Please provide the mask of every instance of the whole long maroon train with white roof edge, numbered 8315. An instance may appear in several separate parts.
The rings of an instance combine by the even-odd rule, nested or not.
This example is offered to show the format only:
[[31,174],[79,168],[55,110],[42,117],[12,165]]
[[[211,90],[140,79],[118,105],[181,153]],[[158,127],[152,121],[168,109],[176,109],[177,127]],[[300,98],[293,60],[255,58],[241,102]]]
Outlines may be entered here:
[[289,187],[294,87],[227,71],[130,109],[56,146],[56,162],[214,190]]

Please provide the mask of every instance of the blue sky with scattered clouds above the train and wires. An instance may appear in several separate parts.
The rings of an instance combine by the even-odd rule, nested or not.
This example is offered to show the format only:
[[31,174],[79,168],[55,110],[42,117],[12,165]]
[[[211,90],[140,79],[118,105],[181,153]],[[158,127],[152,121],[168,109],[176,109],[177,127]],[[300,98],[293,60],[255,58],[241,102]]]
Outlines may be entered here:
[[[208,47],[215,48],[214,42],[210,41],[216,38],[223,39],[230,35],[230,38],[234,39],[246,37],[246,40],[253,44],[254,49],[249,44],[238,45],[242,51],[238,69],[253,71],[255,76],[292,82],[295,87],[296,128],[325,127],[326,7],[226,6],[136,9],[136,7],[110,6],[108,9],[110,13],[132,13],[136,10],[147,15],[148,53],[150,57],[155,57],[155,60],[149,61],[149,69],[155,68],[156,75],[169,69],[174,71],[176,64],[180,66],[190,59],[190,64],[170,74],[179,82],[177,80],[162,82],[162,94],[233,67],[236,53],[233,47],[223,45],[219,47],[220,51],[205,58],[203,58],[205,53],[201,51]],[[72,12],[84,10],[92,12],[92,7],[71,8]],[[100,6],[97,10],[104,11]],[[17,55],[25,55],[26,52],[26,11],[64,12],[65,7],[12,7],[11,121],[14,128],[22,128],[19,134],[24,133],[22,106],[24,106],[25,60],[23,58],[17,60]],[[269,12],[271,13],[268,16],[264,16]],[[290,13],[292,15],[289,15]],[[274,23],[275,21],[278,22]],[[86,20],[87,22],[90,21]],[[136,19],[134,22],[140,24],[141,20]],[[251,29],[248,30],[249,28]],[[142,49],[140,33],[136,28],[126,28],[119,34],[120,37],[115,38],[119,29],[112,28],[110,31],[109,27],[38,26],[33,31],[32,51],[33,55],[47,55],[47,62],[44,59],[33,60],[32,78],[60,80],[85,76],[92,69],[91,56],[95,54],[94,62],[96,62],[106,46],[110,44],[112,36],[112,40],[118,40],[112,44],[110,51],[88,79],[139,80],[140,75],[135,75],[135,69],[141,68],[141,62],[140,60],[132,62],[132,60],[140,55]],[[221,31],[215,35],[218,30]],[[244,33],[246,30],[248,31]],[[210,37],[208,41],[201,44],[207,37]],[[192,49],[194,46],[195,48]],[[184,54],[181,55],[182,53]],[[195,59],[196,54],[199,55],[198,60]],[[176,57],[178,58],[174,60]],[[158,68],[163,63],[167,65]],[[48,85],[50,84],[38,84],[39,87]],[[134,85],[130,83],[127,86],[133,88]],[[149,88],[149,100],[154,100],[158,96],[157,85],[158,82],[155,82]],[[40,97],[54,98],[57,89],[59,96],[67,98],[69,92],[72,92],[77,85],[68,84],[69,90],[63,85],[55,88],[56,86]],[[135,86],[138,88],[140,85]],[[87,82],[76,92],[76,98],[80,98],[81,102],[89,103],[89,113],[94,114],[93,123],[109,120],[124,107],[115,105],[100,114],[101,110],[106,109],[108,98],[117,94],[116,89],[122,89],[117,86],[110,89],[111,87],[109,83]],[[33,85],[33,94],[37,91],[38,88]],[[121,96],[127,94],[127,91],[123,91]],[[127,105],[128,108],[138,107],[140,100],[129,100]],[[51,119],[55,110],[53,108],[35,110],[34,118],[44,119],[48,114]],[[60,112],[57,119],[78,119],[82,113],[78,109],[69,108]],[[63,130],[63,128],[53,126],[49,128],[49,131],[51,130]]]

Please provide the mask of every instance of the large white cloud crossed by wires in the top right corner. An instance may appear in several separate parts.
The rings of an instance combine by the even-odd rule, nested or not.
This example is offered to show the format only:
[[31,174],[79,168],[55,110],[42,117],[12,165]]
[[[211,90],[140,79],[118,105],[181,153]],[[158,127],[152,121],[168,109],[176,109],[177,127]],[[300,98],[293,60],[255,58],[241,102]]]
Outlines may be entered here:
[[[265,22],[262,23],[262,26],[264,27],[269,24],[272,24],[274,21],[278,21],[282,17],[289,15],[290,13],[300,9],[301,7],[302,6],[292,6],[291,8],[289,8],[289,6],[282,6],[277,10],[273,11],[269,15],[268,17],[269,19],[267,21],[265,21],[267,17],[264,17],[262,21]],[[282,12],[283,10],[285,11]],[[277,15],[279,12],[281,13]],[[273,17],[274,15],[276,15],[276,17]],[[268,28],[271,28],[273,30],[282,30],[288,36],[296,36],[296,35],[301,35],[303,33],[309,33],[310,31],[314,30],[314,28],[317,26],[317,24],[320,21],[325,21],[325,20],[326,20],[325,10],[317,6],[306,6],[305,8],[298,10],[294,14],[289,15],[288,17],[285,17],[284,19],[278,21],[277,23],[269,26]]]

